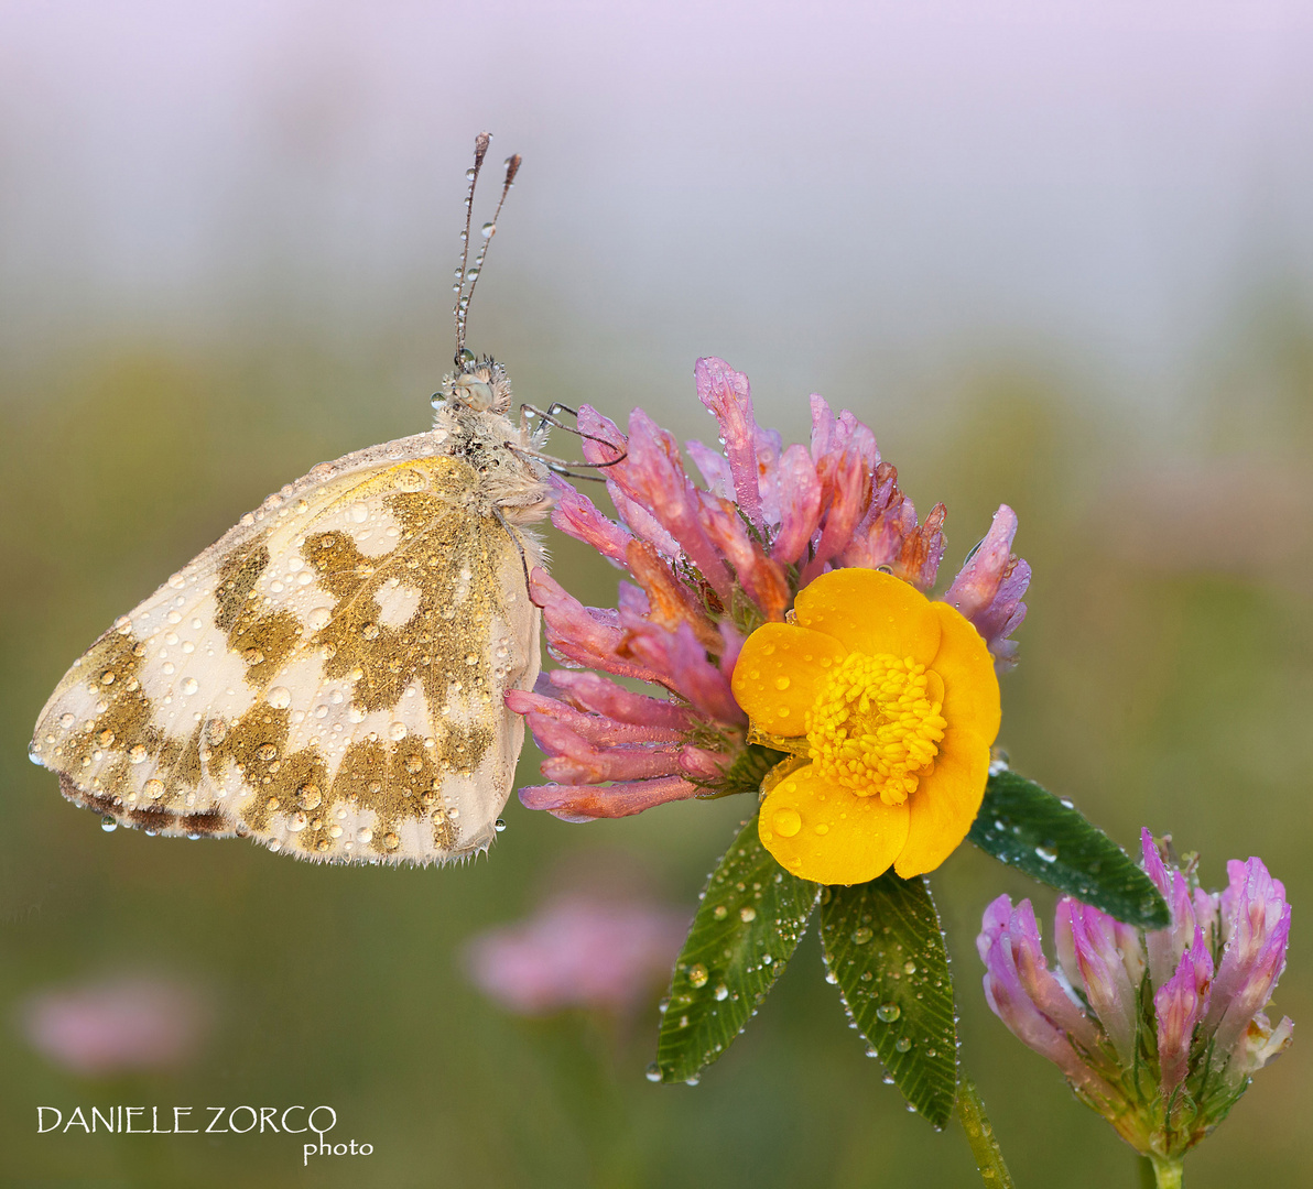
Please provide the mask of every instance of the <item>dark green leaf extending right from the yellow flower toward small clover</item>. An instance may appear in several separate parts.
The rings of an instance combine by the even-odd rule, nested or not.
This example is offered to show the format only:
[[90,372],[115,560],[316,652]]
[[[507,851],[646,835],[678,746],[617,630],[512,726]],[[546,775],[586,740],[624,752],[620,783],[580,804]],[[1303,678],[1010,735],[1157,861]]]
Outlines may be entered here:
[[1162,929],[1167,904],[1149,877],[1102,829],[1015,772],[998,772],[970,840],[1032,879],[1141,929]]

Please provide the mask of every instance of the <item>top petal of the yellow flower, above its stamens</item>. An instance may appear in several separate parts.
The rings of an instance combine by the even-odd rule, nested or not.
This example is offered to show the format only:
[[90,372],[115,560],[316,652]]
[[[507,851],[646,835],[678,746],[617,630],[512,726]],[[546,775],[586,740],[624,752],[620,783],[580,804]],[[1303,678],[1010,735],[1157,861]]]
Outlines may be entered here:
[[831,570],[798,592],[797,622],[832,635],[852,652],[892,652],[930,664],[939,617],[915,587],[877,570]]

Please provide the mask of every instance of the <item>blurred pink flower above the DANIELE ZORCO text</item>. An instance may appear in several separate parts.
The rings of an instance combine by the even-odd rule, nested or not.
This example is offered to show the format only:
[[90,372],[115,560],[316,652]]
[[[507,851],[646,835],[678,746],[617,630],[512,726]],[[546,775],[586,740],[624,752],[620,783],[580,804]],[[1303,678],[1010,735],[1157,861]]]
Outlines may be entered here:
[[201,1047],[209,1021],[192,987],[147,975],[38,991],[18,1009],[28,1043],[83,1077],[181,1066]]

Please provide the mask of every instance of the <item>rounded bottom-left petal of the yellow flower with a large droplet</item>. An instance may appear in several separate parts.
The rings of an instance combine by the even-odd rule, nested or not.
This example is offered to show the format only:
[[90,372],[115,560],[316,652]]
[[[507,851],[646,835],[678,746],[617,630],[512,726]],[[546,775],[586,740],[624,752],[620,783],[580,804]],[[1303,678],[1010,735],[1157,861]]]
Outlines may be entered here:
[[786,871],[817,883],[865,883],[889,870],[907,839],[907,806],[856,797],[813,765],[762,802],[762,845]]

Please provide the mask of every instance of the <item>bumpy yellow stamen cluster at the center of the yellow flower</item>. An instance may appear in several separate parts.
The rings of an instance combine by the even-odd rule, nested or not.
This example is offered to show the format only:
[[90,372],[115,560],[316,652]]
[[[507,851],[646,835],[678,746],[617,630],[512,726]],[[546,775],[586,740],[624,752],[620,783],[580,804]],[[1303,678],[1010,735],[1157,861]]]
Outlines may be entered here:
[[944,682],[910,656],[853,652],[830,673],[807,711],[818,772],[859,797],[902,804],[939,753],[948,723]]

